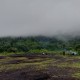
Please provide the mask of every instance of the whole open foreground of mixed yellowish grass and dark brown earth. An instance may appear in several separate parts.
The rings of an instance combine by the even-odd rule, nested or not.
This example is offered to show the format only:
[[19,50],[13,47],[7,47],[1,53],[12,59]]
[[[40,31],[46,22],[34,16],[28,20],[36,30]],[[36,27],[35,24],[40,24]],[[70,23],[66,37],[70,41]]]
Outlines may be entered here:
[[0,56],[0,80],[80,80],[80,57]]

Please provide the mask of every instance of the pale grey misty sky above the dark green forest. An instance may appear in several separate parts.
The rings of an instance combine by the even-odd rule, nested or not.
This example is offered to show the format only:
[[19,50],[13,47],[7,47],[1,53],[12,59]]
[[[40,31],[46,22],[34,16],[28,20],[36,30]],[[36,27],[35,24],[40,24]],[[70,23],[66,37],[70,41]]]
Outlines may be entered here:
[[80,0],[0,0],[0,36],[79,32]]

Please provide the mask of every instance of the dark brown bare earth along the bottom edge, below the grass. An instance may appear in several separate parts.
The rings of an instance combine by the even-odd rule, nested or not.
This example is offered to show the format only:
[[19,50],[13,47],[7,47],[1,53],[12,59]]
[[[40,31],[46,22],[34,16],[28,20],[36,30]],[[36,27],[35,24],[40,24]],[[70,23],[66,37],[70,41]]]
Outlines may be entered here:
[[0,80],[80,80],[71,77],[79,69],[48,67],[44,70],[35,70],[32,66],[25,69],[0,73]]

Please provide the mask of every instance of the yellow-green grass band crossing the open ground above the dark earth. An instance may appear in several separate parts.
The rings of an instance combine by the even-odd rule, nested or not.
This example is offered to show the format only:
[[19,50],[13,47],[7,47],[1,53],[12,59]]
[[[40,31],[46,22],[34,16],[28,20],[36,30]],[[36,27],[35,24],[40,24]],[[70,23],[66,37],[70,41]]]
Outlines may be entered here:
[[[42,58],[36,57],[29,59],[28,57],[6,57],[4,59],[0,59],[0,72],[7,72],[7,71],[15,71],[19,69],[27,69],[28,67],[34,70],[55,70],[56,73],[60,73],[60,71],[64,71],[66,75],[66,68],[69,68],[71,71],[71,77],[80,78],[80,56],[63,56],[57,55],[56,58]],[[77,60],[77,61],[75,61]],[[16,61],[20,61],[16,63]],[[56,67],[56,68],[55,68]],[[64,69],[64,70],[63,70]],[[75,69],[75,71],[74,71]],[[54,72],[55,72],[54,71]],[[52,72],[52,76],[57,76],[54,72]],[[60,75],[60,74],[59,74]],[[64,75],[64,74],[62,74]]]

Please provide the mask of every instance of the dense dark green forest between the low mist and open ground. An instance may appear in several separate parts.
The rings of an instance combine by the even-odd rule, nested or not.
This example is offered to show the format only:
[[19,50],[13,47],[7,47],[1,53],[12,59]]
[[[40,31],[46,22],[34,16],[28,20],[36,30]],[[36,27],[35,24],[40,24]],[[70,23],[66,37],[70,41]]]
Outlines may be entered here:
[[0,52],[39,52],[55,50],[80,51],[80,38],[63,41],[55,37],[5,37],[0,38]]

